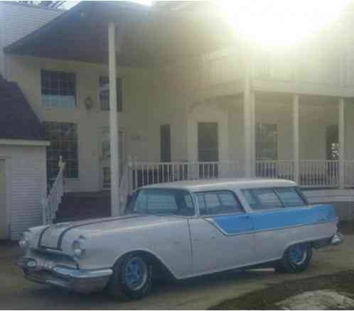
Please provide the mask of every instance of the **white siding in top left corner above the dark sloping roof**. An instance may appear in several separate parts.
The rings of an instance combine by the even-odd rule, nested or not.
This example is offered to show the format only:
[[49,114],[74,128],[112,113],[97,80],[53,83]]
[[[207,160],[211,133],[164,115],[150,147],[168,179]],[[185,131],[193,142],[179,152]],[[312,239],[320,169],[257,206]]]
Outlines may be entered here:
[[0,73],[7,76],[3,48],[59,16],[63,10],[0,1]]

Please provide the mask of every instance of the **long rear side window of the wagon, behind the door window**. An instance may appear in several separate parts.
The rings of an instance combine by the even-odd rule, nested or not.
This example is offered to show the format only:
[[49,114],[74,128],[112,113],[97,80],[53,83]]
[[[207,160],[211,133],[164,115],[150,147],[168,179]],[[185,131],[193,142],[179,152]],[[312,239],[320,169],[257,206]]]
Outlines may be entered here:
[[296,187],[278,187],[242,190],[250,207],[254,210],[298,207],[306,205]]

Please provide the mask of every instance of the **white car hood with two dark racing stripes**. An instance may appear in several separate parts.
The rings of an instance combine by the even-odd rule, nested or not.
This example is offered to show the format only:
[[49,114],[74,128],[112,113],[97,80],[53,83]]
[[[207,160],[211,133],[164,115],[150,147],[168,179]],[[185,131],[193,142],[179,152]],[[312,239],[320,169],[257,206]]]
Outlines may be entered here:
[[108,230],[124,230],[153,225],[175,217],[132,214],[122,217],[90,219],[81,222],[65,222],[45,227],[38,239],[38,246],[63,251],[63,244],[73,243],[73,239],[91,234],[101,234]]

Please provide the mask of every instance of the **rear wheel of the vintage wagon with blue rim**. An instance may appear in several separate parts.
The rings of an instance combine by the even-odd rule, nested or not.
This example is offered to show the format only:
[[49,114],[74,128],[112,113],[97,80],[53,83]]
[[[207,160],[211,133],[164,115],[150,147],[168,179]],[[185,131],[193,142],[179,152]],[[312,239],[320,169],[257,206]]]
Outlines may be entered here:
[[291,245],[278,262],[276,271],[287,273],[303,272],[309,267],[312,248],[308,243]]

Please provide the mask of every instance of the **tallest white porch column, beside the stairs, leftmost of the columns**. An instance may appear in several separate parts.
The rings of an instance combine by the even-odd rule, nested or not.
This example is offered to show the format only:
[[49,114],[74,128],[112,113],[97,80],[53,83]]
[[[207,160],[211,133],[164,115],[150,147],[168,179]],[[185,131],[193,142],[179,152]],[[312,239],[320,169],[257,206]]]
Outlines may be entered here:
[[119,151],[117,118],[117,70],[116,33],[114,23],[108,25],[108,67],[109,67],[109,146],[111,164],[111,216],[120,214],[119,207]]

